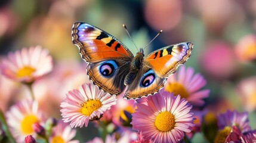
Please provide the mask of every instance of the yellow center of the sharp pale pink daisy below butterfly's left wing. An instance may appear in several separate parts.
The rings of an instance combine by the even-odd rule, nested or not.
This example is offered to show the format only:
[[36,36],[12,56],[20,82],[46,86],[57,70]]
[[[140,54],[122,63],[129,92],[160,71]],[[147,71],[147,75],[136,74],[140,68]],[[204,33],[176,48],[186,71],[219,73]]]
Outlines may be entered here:
[[102,106],[100,100],[88,100],[81,104],[81,112],[85,116],[90,116],[93,111],[98,110]]

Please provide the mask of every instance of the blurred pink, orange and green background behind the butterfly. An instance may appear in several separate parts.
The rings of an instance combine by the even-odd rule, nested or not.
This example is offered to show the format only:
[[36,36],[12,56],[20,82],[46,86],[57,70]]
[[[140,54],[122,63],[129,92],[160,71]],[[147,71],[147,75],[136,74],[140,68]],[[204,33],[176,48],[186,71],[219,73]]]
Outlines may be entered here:
[[[186,66],[201,73],[207,80],[205,88],[211,90],[201,110],[248,111],[252,129],[256,128],[256,1],[1,0],[1,57],[36,45],[50,51],[54,70],[33,88],[41,107],[57,118],[65,93],[88,80],[86,63],[72,43],[71,28],[76,21],[105,30],[134,54],[137,50],[122,24],[138,47],[147,45],[163,30],[146,49],[146,55],[166,45],[193,42]],[[2,110],[26,97],[28,91],[22,86],[0,75]],[[193,141],[204,140],[196,135]]]

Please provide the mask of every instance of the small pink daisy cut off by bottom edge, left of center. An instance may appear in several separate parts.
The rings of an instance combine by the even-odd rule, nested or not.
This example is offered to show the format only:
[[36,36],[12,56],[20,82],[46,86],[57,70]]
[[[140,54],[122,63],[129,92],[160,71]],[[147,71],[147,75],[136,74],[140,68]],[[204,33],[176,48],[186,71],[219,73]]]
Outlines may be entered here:
[[76,135],[76,130],[63,121],[59,120],[57,125],[52,130],[50,142],[63,142],[63,143],[78,143],[78,140],[72,140]]

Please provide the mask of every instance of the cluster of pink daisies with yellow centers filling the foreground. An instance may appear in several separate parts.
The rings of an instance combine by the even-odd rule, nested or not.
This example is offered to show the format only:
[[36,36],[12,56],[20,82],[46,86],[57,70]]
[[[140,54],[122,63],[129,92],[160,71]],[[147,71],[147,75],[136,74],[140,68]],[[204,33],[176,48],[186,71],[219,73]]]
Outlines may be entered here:
[[[32,88],[53,70],[52,59],[46,49],[36,46],[10,52],[2,60],[2,75],[23,83],[32,95],[32,99],[16,102],[5,114],[10,134],[17,142],[79,142],[73,139],[77,129],[72,128],[85,127],[85,132],[90,132],[91,125],[100,137],[94,135],[85,139],[87,142],[181,142],[192,139],[197,132],[214,142],[256,141],[248,113],[235,110],[210,114],[206,111],[209,109],[201,110],[204,98],[209,96],[209,89],[204,89],[206,79],[185,66],[179,67],[158,93],[137,100],[125,100],[123,93],[110,95],[88,79],[81,85],[75,83],[78,86],[67,91],[58,103],[60,114],[55,116],[58,120],[54,119],[45,114],[43,107],[47,105],[40,105],[40,98],[33,95],[38,89]],[[57,74],[54,76],[66,77],[71,72]]]

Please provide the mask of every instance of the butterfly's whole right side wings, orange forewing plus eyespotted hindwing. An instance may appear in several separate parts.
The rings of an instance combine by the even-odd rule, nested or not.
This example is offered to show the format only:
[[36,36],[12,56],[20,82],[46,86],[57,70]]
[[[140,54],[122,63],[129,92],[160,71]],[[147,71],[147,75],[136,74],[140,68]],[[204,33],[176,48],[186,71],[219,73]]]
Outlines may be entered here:
[[193,43],[184,42],[158,49],[144,58],[143,67],[128,85],[125,98],[155,94],[164,87],[167,77],[190,57]]

